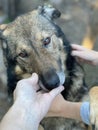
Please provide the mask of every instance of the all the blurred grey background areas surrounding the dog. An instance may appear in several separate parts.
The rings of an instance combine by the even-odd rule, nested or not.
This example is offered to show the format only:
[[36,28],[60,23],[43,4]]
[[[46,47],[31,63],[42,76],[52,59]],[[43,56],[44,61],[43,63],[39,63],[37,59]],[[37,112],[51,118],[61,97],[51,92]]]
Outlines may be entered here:
[[[81,44],[87,33],[89,16],[93,10],[93,4],[98,0],[0,0],[0,24],[9,23],[17,16],[37,8],[44,3],[54,5],[61,11],[61,18],[56,22],[64,31],[67,39],[71,43]],[[94,50],[98,50],[98,40],[95,43]],[[2,57],[0,57],[2,59]],[[1,60],[0,60],[1,62]],[[0,63],[0,68],[3,64]],[[83,65],[87,85],[98,85],[98,67]],[[0,70],[2,79],[3,70]],[[3,76],[3,79],[5,77]],[[0,119],[7,111],[9,101],[5,96],[5,87],[0,84]]]

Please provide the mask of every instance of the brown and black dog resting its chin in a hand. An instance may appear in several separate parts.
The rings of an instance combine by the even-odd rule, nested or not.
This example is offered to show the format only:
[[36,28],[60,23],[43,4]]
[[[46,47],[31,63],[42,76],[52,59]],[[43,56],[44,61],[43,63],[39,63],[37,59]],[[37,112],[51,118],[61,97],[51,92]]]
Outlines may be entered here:
[[[84,70],[71,56],[70,42],[55,23],[60,15],[52,6],[40,6],[0,26],[9,95],[17,81],[36,72],[39,86],[45,91],[62,84],[65,87],[62,95],[66,100],[78,102],[89,97]],[[65,118],[45,118],[41,124],[45,130],[89,129],[82,122]]]

